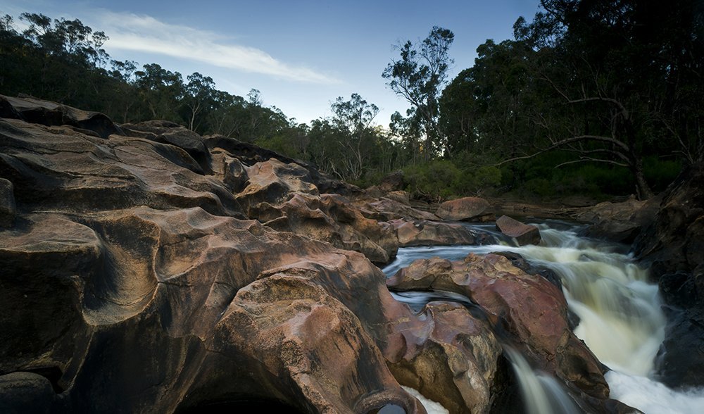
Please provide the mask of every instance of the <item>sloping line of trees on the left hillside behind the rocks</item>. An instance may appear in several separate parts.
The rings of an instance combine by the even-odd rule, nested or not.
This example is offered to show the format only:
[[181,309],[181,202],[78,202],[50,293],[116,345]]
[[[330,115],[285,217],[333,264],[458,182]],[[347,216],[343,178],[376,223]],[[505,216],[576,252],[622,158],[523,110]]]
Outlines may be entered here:
[[372,124],[378,108],[357,94],[338,98],[333,115],[296,123],[260,92],[223,92],[213,79],[184,77],[156,63],[115,61],[103,49],[108,37],[80,20],[23,13],[0,19],[0,93],[27,94],[100,111],[117,123],[161,119],[201,135],[222,134],[318,165],[341,179],[364,184],[405,163],[403,148]]

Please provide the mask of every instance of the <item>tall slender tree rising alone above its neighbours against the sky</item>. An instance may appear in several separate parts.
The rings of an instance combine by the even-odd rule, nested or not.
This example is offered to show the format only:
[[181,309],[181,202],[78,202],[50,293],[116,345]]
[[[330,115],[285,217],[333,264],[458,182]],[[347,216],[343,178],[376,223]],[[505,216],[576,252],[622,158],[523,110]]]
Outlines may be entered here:
[[409,40],[396,46],[400,58],[389,63],[382,73],[391,90],[413,106],[414,119],[422,125],[425,134],[423,152],[426,159],[439,151],[448,151],[438,127],[438,99],[446,84],[448,68],[453,63],[448,49],[454,38],[450,30],[434,26],[420,44]]

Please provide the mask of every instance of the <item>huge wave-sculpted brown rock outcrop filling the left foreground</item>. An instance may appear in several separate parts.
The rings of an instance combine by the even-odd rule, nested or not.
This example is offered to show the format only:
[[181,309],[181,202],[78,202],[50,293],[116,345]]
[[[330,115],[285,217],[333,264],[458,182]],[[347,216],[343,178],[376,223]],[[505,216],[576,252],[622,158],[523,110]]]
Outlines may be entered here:
[[411,314],[380,270],[243,220],[258,201],[245,190],[267,188],[280,167],[265,200],[310,197],[333,221],[382,227],[320,196],[306,169],[247,165],[225,149],[196,161],[187,142],[148,136],[170,126],[152,126],[101,138],[0,120],[3,206],[15,200],[0,228],[0,303],[12,309],[0,313],[2,409],[173,412],[246,399],[424,413],[386,367],[401,336],[391,322]]

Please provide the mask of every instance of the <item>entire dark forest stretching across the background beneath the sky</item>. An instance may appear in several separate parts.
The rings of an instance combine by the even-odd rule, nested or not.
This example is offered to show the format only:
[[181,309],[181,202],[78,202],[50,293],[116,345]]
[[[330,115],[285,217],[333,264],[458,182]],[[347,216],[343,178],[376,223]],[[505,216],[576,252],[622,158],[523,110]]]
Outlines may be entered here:
[[[18,20],[23,30],[18,29]],[[359,94],[297,123],[201,73],[115,61],[108,36],[40,13],[0,18],[0,93],[100,111],[117,123],[161,119],[222,134],[375,184],[403,170],[409,192],[593,199],[656,194],[704,158],[704,3],[543,0],[514,38],[488,39],[448,78],[454,35],[432,27],[379,65],[408,102],[388,127]]]

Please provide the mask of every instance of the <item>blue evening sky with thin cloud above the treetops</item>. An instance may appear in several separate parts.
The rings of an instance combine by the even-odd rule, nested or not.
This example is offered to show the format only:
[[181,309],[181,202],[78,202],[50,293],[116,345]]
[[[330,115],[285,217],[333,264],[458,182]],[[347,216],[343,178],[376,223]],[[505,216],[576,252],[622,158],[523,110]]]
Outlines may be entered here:
[[409,107],[382,77],[395,45],[420,42],[433,26],[451,30],[452,80],[474,64],[477,46],[513,39],[515,20],[538,8],[539,0],[0,0],[0,15],[18,27],[23,12],[77,18],[106,33],[113,59],[158,63],[184,81],[198,72],[239,96],[258,89],[265,106],[297,123],[330,116],[338,96],[356,93],[380,108],[382,126]]

